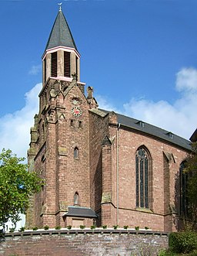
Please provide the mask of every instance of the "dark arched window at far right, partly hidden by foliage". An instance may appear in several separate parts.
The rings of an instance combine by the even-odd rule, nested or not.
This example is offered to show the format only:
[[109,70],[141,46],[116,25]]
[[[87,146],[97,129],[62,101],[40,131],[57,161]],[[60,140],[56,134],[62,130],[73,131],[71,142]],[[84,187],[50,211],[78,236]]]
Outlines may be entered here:
[[179,169],[180,176],[180,215],[183,217],[188,216],[188,173],[184,172],[185,162],[182,162]]

